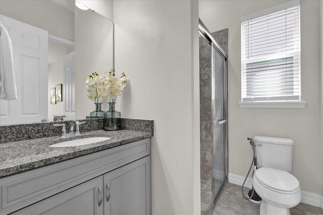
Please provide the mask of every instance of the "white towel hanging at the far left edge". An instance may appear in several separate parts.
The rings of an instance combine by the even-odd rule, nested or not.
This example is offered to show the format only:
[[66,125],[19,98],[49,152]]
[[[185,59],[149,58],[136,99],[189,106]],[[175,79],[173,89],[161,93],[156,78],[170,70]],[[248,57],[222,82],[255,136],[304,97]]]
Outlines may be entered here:
[[0,23],[0,98],[17,99],[12,42],[6,28]]

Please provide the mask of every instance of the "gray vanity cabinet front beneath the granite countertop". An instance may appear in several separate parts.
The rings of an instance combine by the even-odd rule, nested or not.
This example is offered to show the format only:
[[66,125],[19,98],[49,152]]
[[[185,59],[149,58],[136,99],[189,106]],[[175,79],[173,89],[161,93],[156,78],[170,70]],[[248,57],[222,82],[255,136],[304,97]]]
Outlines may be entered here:
[[9,176],[0,184],[0,215],[150,215],[150,138]]

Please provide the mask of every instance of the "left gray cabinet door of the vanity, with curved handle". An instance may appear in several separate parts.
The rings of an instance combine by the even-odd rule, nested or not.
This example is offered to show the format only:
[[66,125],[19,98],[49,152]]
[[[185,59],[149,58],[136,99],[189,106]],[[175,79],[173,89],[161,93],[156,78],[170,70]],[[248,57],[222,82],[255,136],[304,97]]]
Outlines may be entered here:
[[103,177],[99,176],[13,214],[103,214]]

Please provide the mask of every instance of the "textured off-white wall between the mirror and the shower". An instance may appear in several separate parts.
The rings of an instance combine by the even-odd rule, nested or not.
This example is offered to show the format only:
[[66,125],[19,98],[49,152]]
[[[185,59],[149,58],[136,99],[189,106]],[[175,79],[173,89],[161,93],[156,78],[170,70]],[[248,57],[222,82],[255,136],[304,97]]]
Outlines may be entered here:
[[[197,1],[114,1],[123,117],[153,119],[152,214],[200,214]],[[196,88],[197,87],[197,88]]]

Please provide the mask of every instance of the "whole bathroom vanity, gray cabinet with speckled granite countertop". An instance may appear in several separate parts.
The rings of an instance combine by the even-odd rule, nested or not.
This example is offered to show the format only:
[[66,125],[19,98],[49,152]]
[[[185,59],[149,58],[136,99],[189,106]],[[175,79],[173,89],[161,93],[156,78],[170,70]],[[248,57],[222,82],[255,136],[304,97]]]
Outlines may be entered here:
[[[150,214],[151,133],[82,133],[111,139],[51,148],[45,137],[0,144],[0,214]],[[5,153],[4,153],[5,152]]]

